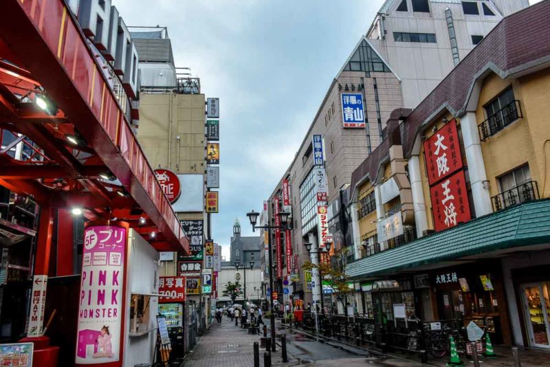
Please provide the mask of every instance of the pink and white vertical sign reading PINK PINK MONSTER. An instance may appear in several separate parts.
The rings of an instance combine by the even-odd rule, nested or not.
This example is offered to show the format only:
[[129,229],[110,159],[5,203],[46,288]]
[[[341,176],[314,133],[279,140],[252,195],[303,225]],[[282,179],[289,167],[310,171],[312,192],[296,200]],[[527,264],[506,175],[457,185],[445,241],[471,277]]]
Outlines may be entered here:
[[121,358],[127,231],[122,225],[85,227],[76,364]]

